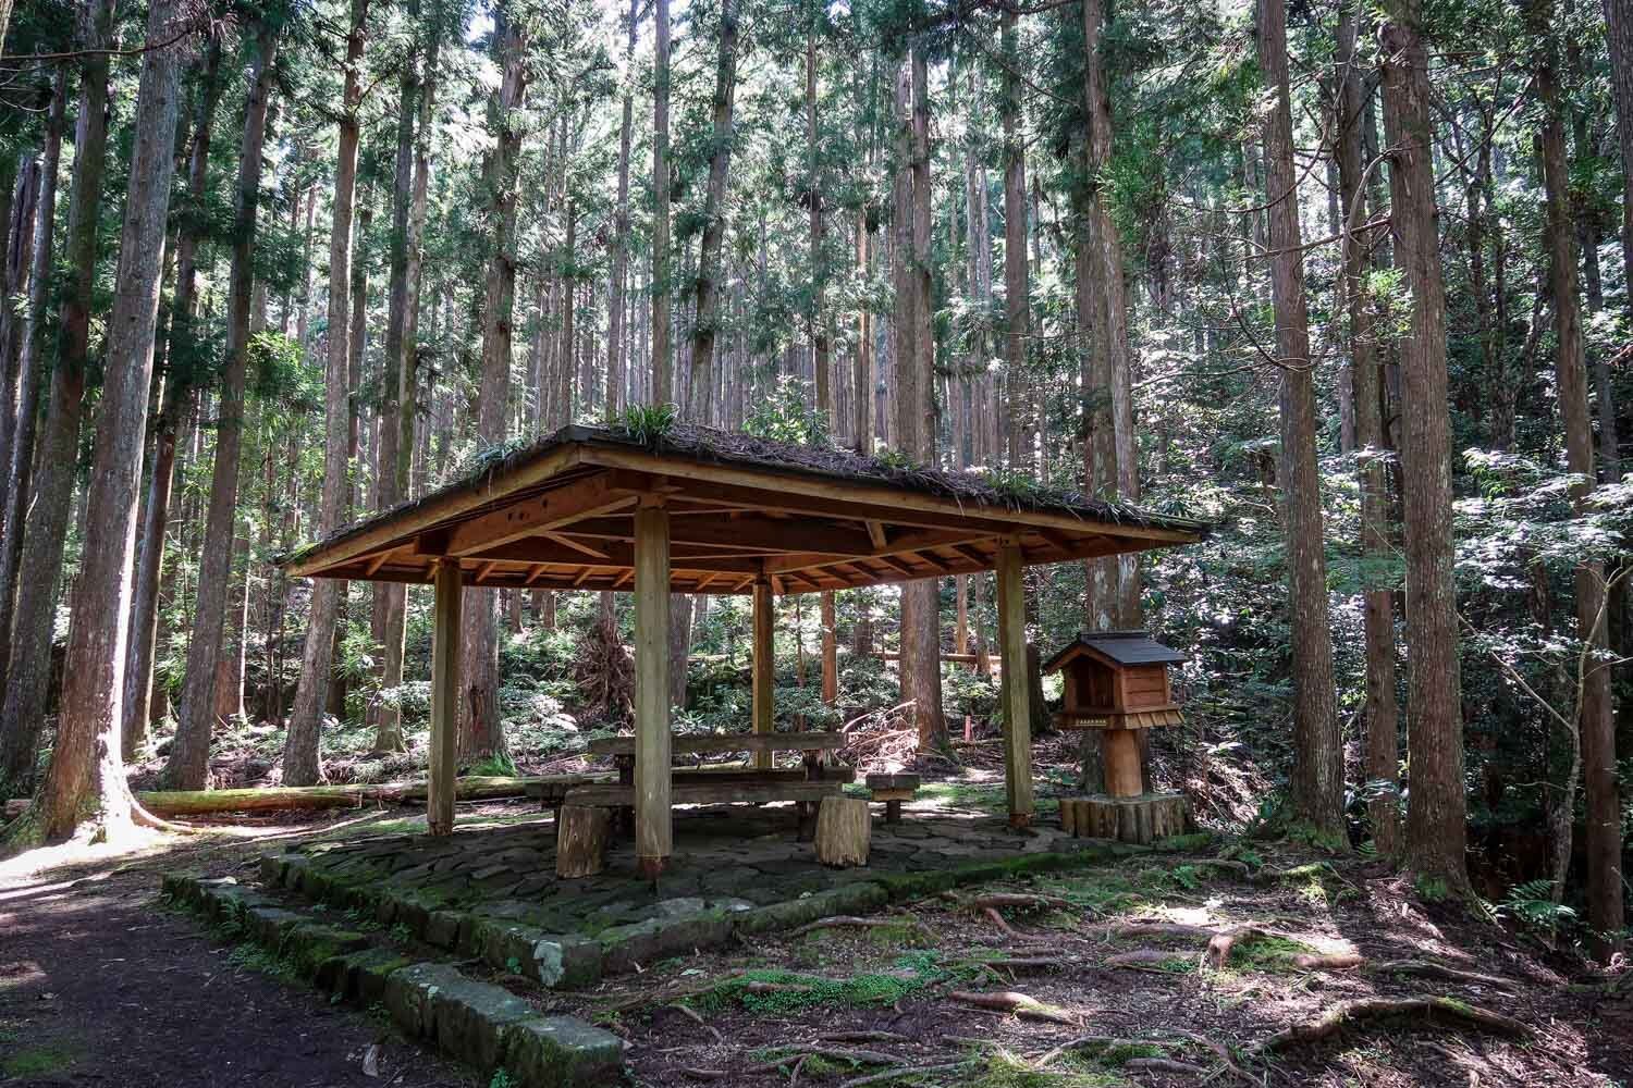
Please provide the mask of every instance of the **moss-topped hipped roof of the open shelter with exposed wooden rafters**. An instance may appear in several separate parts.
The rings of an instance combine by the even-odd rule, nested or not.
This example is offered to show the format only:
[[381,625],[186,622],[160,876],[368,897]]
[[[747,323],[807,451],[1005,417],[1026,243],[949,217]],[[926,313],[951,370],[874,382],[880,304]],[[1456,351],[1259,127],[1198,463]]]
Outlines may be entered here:
[[[426,581],[436,559],[456,556],[475,584],[619,589],[630,566],[619,545],[632,535],[616,522],[629,520],[643,489],[661,491],[676,519],[699,515],[686,517],[687,527],[710,525],[674,535],[674,587],[692,592],[741,592],[756,571],[799,592],[986,569],[996,551],[981,546],[988,537],[1027,533],[1029,561],[1060,561],[1207,532],[1190,519],[831,447],[694,426],[642,442],[572,426],[482,458],[461,480],[349,525],[286,566]],[[549,506],[549,515],[537,512]],[[785,532],[771,532],[779,527]]]

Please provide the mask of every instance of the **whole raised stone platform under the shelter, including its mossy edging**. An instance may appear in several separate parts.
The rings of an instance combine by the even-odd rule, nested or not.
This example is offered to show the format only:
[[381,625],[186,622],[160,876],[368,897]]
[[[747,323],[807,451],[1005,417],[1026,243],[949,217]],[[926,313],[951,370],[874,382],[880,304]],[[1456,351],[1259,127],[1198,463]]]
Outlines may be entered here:
[[[874,775],[872,781],[918,781]],[[606,871],[555,878],[547,824],[464,827],[446,838],[384,835],[297,847],[261,866],[284,887],[380,925],[403,927],[449,954],[552,988],[594,985],[665,956],[892,899],[1114,856],[1114,847],[1034,829],[968,806],[918,806],[911,824],[879,824],[867,868],[825,869],[797,840],[792,812],[714,806],[674,820],[674,856],[661,881],[639,879],[634,845],[614,843]],[[242,894],[242,892],[237,892]]]

